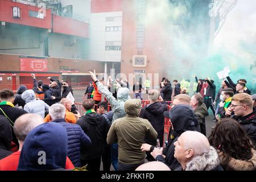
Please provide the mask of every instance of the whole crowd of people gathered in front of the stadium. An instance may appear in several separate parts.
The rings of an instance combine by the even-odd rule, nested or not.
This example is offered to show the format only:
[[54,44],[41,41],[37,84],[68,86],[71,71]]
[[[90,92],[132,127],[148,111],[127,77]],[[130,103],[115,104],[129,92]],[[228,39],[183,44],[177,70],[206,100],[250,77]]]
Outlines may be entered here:
[[[32,89],[0,91],[1,171],[100,171],[101,163],[104,171],[256,169],[256,94],[245,79],[227,77],[216,96],[213,80],[195,76],[190,97],[190,80],[174,80],[173,93],[168,78],[160,90],[147,78],[133,85],[132,99],[127,80],[109,76],[104,85],[90,75],[81,114],[67,98],[68,81],[48,77],[46,84],[32,74]],[[143,107],[142,90],[149,101]],[[209,107],[216,125],[207,136]]]

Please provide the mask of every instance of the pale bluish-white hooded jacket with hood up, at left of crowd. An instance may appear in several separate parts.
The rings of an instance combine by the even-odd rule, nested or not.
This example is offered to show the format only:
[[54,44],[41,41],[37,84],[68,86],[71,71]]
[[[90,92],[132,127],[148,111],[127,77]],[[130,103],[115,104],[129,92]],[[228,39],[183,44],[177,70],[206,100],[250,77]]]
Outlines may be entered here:
[[45,112],[49,110],[49,105],[44,101],[36,100],[35,92],[33,90],[26,90],[22,94],[22,99],[26,102],[24,110],[28,113],[34,113],[44,118]]

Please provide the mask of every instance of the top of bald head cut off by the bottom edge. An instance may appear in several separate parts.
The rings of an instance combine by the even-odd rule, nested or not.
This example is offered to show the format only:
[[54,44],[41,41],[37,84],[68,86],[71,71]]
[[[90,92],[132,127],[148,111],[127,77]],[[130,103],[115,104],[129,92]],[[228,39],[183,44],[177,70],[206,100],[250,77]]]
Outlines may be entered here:
[[142,164],[135,171],[171,171],[171,169],[162,162],[153,161]]

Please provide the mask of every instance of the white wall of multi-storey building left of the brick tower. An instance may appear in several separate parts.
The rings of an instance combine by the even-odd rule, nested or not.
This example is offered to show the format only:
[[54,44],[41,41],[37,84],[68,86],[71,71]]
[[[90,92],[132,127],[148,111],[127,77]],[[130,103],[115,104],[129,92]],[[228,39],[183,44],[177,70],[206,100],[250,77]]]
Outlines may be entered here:
[[90,15],[90,59],[121,61],[120,51],[106,51],[106,42],[121,46],[122,31],[106,31],[106,27],[122,27],[122,12],[93,13]]

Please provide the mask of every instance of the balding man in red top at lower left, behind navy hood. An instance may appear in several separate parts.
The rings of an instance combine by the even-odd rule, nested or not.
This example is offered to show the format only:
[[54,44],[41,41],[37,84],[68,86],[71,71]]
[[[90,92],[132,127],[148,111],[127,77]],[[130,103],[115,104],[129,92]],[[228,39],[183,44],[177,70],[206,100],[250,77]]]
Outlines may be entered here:
[[38,114],[23,114],[14,123],[14,134],[19,142],[19,150],[0,160],[0,171],[16,171],[19,163],[20,151],[27,134],[36,126],[44,123]]

